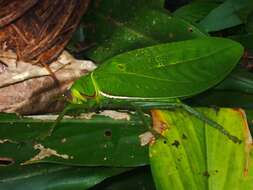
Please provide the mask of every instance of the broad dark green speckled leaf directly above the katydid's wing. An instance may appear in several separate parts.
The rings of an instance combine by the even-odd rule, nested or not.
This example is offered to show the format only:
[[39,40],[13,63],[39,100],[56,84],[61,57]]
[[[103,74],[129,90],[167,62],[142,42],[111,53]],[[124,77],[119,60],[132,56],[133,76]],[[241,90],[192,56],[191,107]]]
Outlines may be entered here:
[[206,35],[168,11],[146,4],[135,0],[94,1],[84,22],[87,41],[95,47],[85,55],[103,62],[125,51]]

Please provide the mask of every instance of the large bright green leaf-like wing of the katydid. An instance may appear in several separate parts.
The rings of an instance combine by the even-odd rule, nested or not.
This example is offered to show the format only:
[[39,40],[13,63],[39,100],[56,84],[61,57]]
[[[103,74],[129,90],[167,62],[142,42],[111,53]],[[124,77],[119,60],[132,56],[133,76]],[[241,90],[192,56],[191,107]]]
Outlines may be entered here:
[[239,43],[224,38],[160,44],[107,60],[92,79],[109,95],[185,98],[220,82],[242,53]]

